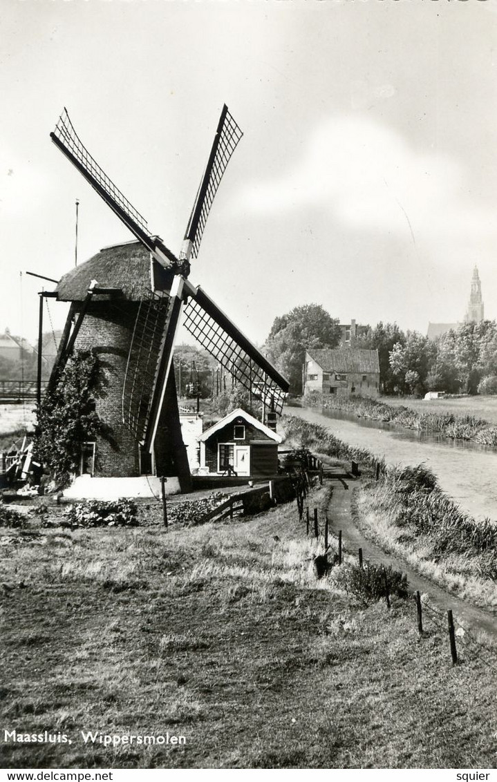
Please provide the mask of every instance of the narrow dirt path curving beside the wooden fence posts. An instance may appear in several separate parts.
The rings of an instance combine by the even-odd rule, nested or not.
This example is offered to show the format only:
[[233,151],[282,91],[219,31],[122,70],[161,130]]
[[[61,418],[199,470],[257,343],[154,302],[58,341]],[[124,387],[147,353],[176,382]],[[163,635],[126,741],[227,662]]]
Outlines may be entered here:
[[483,608],[461,600],[450,592],[438,587],[433,581],[409,569],[405,560],[388,554],[380,546],[366,538],[352,521],[351,496],[357,486],[357,481],[340,480],[333,481],[333,497],[330,501],[328,515],[330,529],[334,535],[342,531],[342,541],[349,553],[355,553],[362,548],[362,555],[376,565],[391,565],[395,570],[406,573],[409,582],[409,590],[419,590],[422,594],[428,594],[430,602],[433,602],[441,611],[447,612],[452,608],[454,619],[468,630],[484,633],[492,641],[497,640],[497,617],[484,611]]

